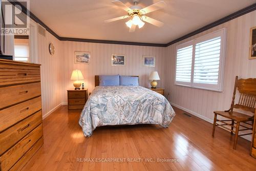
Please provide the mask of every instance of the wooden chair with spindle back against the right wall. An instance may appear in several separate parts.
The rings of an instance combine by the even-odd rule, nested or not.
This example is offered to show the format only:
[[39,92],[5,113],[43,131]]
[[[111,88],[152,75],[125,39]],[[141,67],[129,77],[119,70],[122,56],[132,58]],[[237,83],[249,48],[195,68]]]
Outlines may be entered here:
[[[240,92],[240,98],[238,103],[234,104],[237,90]],[[216,126],[224,127],[225,129],[230,131],[231,135],[235,133],[233,149],[236,149],[238,136],[252,134],[252,133],[248,133],[248,134],[239,135],[238,133],[239,131],[252,130],[251,126],[253,125],[253,116],[245,115],[239,112],[234,112],[233,109],[234,108],[241,109],[244,111],[252,112],[254,114],[255,103],[256,103],[256,78],[238,79],[238,76],[236,76],[230,109],[227,111],[214,111],[215,116],[214,116],[214,127],[212,128],[212,137],[214,137]],[[228,118],[230,120],[219,120],[217,119],[217,115]],[[247,123],[248,121],[251,121],[251,124]],[[219,123],[216,123],[216,122],[219,122]],[[245,124],[241,125],[240,124],[241,122]],[[231,129],[224,125],[230,126]],[[244,127],[244,129],[239,130],[240,126]],[[234,128],[236,129],[235,131],[233,130]]]

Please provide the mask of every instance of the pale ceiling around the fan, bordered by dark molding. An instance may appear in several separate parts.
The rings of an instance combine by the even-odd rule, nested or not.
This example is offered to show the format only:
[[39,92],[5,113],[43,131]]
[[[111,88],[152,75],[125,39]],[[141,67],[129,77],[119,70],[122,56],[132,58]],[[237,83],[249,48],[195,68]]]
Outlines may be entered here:
[[[147,14],[164,23],[158,28],[146,23],[129,33],[128,18],[112,23],[104,20],[126,15],[112,0],[32,0],[30,10],[61,37],[119,40],[166,44],[189,32],[245,8],[255,0],[164,0],[166,7]],[[120,0],[132,6],[132,0]],[[142,8],[160,0],[140,0]]]

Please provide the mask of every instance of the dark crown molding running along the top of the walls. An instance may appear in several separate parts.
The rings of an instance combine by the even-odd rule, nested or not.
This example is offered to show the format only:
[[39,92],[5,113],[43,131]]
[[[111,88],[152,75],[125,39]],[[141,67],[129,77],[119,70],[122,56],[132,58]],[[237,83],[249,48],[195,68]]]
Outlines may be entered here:
[[[20,5],[22,7],[22,11],[24,13],[26,13],[26,7],[23,6],[22,4],[20,4],[17,0],[15,1],[10,1],[8,0],[11,4],[13,5]],[[193,32],[190,32],[184,36],[181,36],[175,40],[172,40],[170,42],[168,42],[167,44],[153,44],[153,43],[147,43],[147,42],[132,42],[132,41],[115,41],[115,40],[98,40],[98,39],[86,39],[86,38],[73,38],[73,37],[60,37],[57,33],[55,33],[52,29],[50,29],[50,27],[48,27],[44,22],[42,22],[36,15],[34,15],[31,11],[29,11],[29,17],[31,19],[33,19],[36,23],[40,24],[42,27],[46,28],[46,30],[51,33],[52,35],[54,35],[58,40],[61,41],[80,41],[80,42],[94,42],[94,43],[100,43],[100,44],[118,44],[118,45],[135,45],[135,46],[153,46],[153,47],[168,47],[170,45],[175,44],[176,42],[179,42],[181,40],[184,40],[186,38],[189,38],[191,36],[194,36],[196,34],[199,34],[201,32],[204,32],[208,29],[214,28],[216,26],[219,26],[223,23],[228,22],[229,20],[232,20],[234,18],[237,18],[241,15],[247,14],[249,12],[252,12],[256,10],[256,3],[245,7],[237,12],[234,12],[232,14],[229,14],[219,20],[216,20],[213,23],[210,23],[200,29],[197,29]]]

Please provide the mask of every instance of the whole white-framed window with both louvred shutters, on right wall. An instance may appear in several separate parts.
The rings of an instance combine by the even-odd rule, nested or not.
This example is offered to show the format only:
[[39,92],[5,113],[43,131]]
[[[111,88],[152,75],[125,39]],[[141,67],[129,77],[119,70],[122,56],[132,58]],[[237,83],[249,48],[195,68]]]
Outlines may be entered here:
[[175,82],[181,86],[222,91],[226,29],[177,46]]

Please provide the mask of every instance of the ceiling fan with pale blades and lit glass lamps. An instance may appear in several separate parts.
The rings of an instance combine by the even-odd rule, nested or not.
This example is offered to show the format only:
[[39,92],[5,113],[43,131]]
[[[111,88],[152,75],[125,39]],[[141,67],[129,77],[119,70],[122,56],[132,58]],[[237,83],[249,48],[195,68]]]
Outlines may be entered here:
[[137,25],[138,25],[139,29],[142,28],[145,24],[144,22],[150,23],[157,27],[163,26],[163,23],[160,22],[159,20],[145,16],[145,14],[147,14],[147,13],[164,8],[165,3],[163,1],[159,1],[153,5],[143,8],[143,9],[140,6],[138,6],[139,0],[134,0],[133,2],[134,2],[134,6],[129,8],[125,4],[123,4],[121,1],[118,1],[118,0],[112,1],[113,4],[122,8],[123,10],[125,10],[127,12],[127,15],[108,19],[108,20],[105,20],[105,22],[110,23],[110,22],[114,22],[116,20],[132,17],[132,19],[130,19],[128,22],[125,23],[126,26],[130,28],[129,32],[134,32]]

